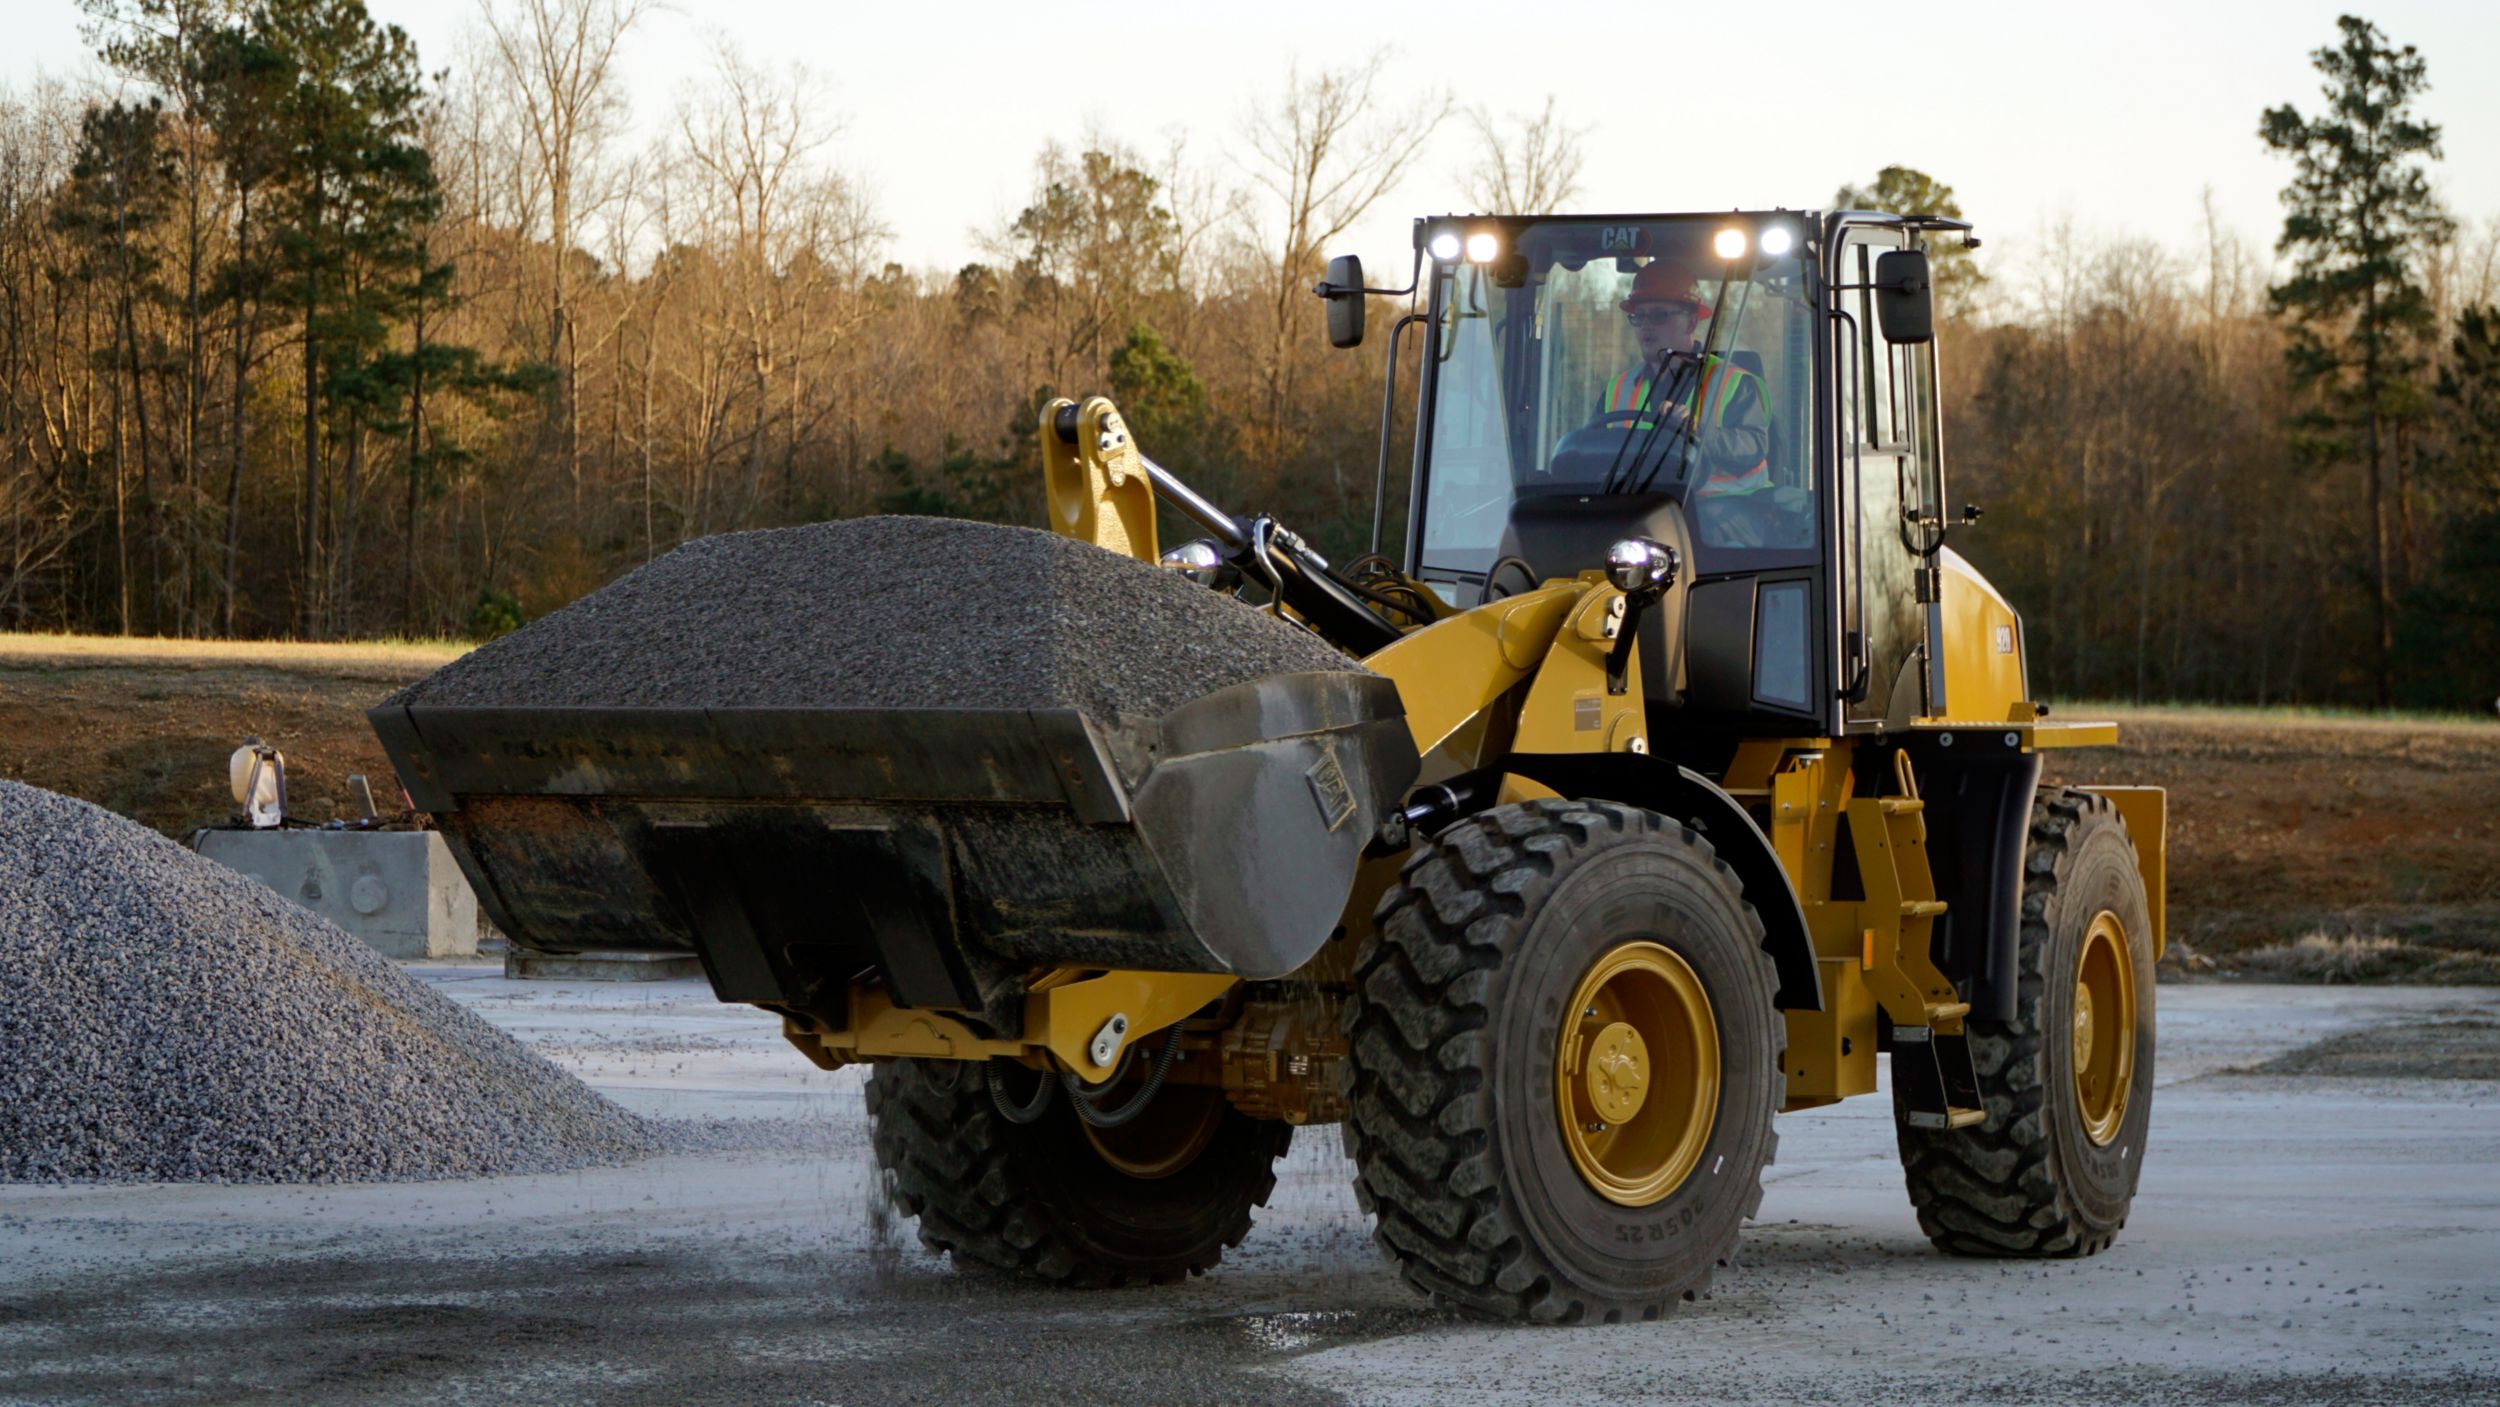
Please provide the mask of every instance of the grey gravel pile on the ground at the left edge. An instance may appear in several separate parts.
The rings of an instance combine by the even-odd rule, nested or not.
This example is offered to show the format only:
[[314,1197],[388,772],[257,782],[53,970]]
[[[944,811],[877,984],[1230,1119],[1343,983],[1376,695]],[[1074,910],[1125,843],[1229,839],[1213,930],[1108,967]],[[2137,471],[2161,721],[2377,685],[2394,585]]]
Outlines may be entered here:
[[608,1102],[275,890],[0,782],[0,1182],[400,1182],[622,1162]]

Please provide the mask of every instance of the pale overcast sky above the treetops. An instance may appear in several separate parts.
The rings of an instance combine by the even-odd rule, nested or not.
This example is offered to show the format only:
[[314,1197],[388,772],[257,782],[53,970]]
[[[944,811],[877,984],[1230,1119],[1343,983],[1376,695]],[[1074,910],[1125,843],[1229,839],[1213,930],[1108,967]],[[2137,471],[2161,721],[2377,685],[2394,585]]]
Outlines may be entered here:
[[[428,70],[452,65],[475,22],[472,2],[368,2],[410,30]],[[1950,182],[1990,262],[2018,270],[2065,217],[2202,247],[2205,187],[2230,230],[2270,247],[2288,162],[2258,142],[2258,115],[2318,107],[2308,50],[2335,37],[2348,5],[678,0],[645,17],[622,80],[638,125],[658,132],[715,35],[805,62],[842,120],[828,160],[875,192],[888,255],[912,267],[975,257],[972,230],[1022,205],[1048,137],[1100,127],[1160,152],[1182,132],[1228,160],[1288,65],[1390,45],[1392,100],[1448,90],[1532,110],[1552,92],[1588,127],[1585,210],[1822,205],[1905,162]],[[2430,62],[2422,112],[2445,127],[2435,180],[2450,207],[2500,215],[2500,5],[2382,0],[2370,17]],[[90,72],[78,20],[72,0],[15,0],[0,75]],[[1462,127],[1432,137],[1352,250],[1402,267],[1412,215],[1465,207],[1468,157]]]

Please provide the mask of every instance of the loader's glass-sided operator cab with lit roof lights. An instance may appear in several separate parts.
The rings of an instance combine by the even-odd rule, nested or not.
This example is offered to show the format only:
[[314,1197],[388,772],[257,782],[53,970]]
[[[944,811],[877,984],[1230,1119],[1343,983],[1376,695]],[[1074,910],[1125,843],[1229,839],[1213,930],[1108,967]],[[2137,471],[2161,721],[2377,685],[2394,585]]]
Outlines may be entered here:
[[1880,727],[1920,687],[1942,475],[1932,342],[1885,340],[1872,262],[1932,225],[1420,220],[1410,572],[1470,607],[1655,537],[1682,570],[1642,630],[1652,715]]

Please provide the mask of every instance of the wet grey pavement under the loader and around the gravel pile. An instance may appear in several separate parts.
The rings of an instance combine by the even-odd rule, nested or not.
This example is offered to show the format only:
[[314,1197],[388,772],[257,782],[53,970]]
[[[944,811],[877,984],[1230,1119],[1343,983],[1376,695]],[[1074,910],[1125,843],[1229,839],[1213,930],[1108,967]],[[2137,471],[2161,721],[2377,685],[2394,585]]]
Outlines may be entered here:
[[[638,1112],[810,1120],[830,1152],[0,1187],[0,1405],[2500,1400],[2500,1082],[2452,1077],[2490,1070],[2492,990],[2165,987],[2145,1187],[2102,1257],[1930,1252],[1890,1105],[1852,1100],[1782,1117],[1715,1295],[1515,1330],[1405,1290],[1332,1130],[1212,1275],[1035,1290],[958,1275],[875,1205],[860,1072],[770,1017],[700,982],[415,970]],[[2312,1047],[2332,1060],[2285,1062]]]

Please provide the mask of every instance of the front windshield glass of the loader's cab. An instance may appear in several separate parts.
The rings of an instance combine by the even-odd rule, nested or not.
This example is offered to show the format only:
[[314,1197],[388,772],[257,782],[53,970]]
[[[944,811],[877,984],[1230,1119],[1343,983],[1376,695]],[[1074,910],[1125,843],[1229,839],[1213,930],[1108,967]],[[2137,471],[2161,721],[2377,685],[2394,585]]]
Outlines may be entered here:
[[[1720,255],[1728,230],[1738,257]],[[1762,252],[1768,230],[1780,255]],[[1480,592],[1512,510],[1538,497],[1682,502],[1705,572],[1815,547],[1792,220],[1538,220],[1500,237],[1490,260],[1432,265],[1420,575]]]

